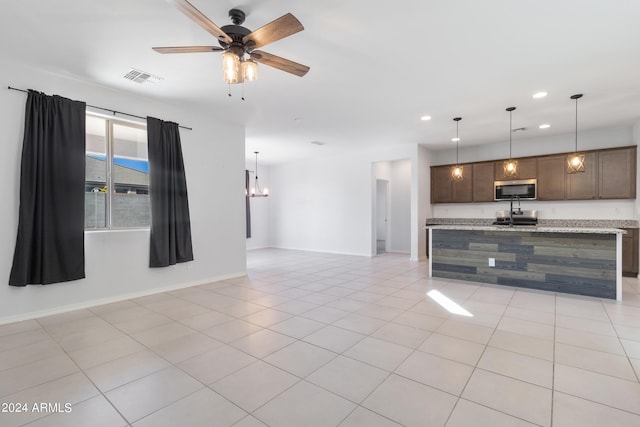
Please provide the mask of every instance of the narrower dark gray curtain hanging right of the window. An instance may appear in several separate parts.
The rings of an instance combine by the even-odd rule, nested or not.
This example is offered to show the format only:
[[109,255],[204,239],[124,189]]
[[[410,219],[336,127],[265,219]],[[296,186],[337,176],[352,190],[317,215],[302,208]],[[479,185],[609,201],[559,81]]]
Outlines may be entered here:
[[147,117],[151,244],[149,267],[193,260],[191,221],[178,124]]

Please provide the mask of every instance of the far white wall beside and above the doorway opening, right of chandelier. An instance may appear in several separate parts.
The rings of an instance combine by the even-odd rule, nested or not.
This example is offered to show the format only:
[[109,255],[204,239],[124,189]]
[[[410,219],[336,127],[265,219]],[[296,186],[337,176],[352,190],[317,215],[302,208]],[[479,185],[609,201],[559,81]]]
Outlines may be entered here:
[[372,150],[326,150],[313,158],[272,165],[272,246],[375,254],[373,163],[414,156],[415,145],[404,144]]

